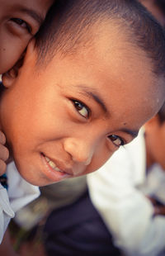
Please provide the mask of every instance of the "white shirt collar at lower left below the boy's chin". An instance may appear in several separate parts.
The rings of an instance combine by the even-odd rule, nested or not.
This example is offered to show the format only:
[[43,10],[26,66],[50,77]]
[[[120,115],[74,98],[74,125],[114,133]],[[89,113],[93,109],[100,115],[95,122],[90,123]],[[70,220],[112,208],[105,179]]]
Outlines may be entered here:
[[7,164],[7,183],[8,190],[0,184],[0,244],[15,212],[40,195],[38,187],[21,178],[13,162]]

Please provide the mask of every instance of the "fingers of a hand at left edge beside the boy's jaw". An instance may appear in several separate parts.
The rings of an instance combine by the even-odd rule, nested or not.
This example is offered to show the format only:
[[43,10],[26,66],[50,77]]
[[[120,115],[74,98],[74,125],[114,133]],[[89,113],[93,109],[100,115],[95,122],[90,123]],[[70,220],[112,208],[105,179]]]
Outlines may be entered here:
[[9,157],[8,149],[4,146],[6,143],[6,137],[0,130],[0,176],[5,173],[7,164],[5,161],[7,161]]

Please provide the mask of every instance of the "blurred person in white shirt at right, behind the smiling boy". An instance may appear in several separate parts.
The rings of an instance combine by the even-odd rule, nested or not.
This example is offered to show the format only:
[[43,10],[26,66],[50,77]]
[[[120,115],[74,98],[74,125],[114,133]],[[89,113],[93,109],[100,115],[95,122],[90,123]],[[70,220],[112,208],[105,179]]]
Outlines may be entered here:
[[144,128],[87,183],[93,205],[126,255],[165,255],[165,105]]

